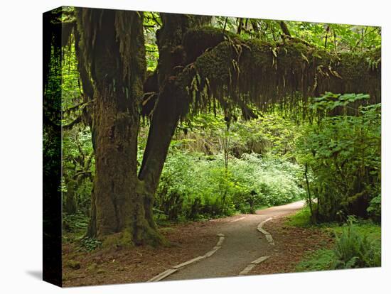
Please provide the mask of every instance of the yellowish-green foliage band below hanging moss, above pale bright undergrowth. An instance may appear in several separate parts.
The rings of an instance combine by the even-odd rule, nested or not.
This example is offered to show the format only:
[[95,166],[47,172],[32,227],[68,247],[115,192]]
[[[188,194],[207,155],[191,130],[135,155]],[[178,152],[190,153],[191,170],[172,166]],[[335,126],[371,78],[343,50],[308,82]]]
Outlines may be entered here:
[[259,114],[258,119],[250,121],[237,119],[230,123],[229,130],[223,114],[199,114],[181,124],[174,143],[183,150],[212,155],[222,151],[223,141],[228,139],[228,152],[236,158],[244,153],[270,153],[294,160],[298,134],[299,126],[278,113]]

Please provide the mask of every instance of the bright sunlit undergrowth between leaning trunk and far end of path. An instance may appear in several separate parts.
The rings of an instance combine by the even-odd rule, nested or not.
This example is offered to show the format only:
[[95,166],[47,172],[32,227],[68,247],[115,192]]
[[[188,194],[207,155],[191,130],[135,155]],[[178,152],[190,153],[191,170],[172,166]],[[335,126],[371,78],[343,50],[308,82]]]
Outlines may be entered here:
[[156,194],[159,219],[199,219],[235,212],[255,212],[260,205],[282,205],[300,199],[301,168],[283,160],[245,154],[224,158],[171,151]]

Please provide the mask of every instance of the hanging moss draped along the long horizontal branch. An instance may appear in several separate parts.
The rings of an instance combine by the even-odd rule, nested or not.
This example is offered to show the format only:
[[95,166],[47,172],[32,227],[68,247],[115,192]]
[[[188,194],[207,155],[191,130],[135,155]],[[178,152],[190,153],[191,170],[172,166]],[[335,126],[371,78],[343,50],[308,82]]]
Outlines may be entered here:
[[[186,53],[197,55],[198,43],[205,48],[224,38],[218,33],[209,28],[189,32]],[[204,43],[201,36],[207,36]],[[211,109],[215,99],[223,107],[244,102],[261,109],[300,105],[305,111],[308,97],[326,91],[369,93],[371,102],[379,102],[380,50],[335,55],[294,38],[272,44],[230,36],[198,56],[177,82],[186,89],[191,112]]]

